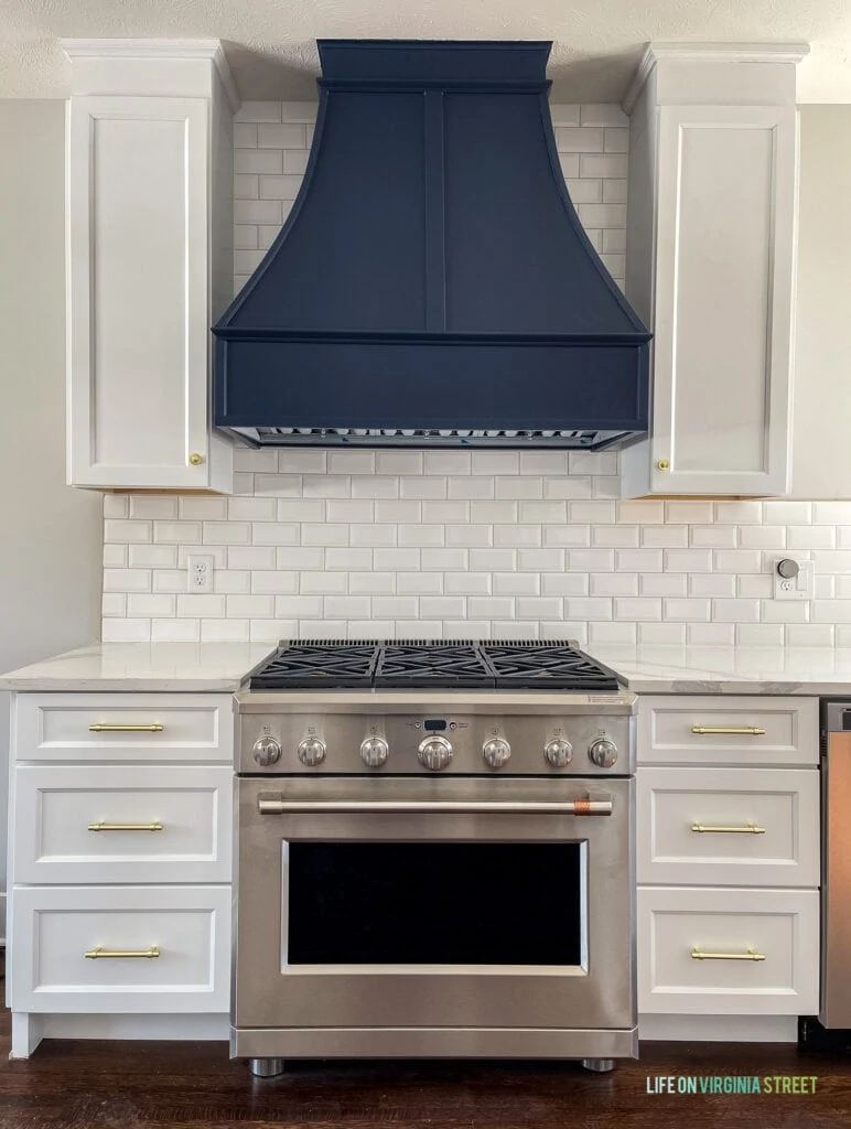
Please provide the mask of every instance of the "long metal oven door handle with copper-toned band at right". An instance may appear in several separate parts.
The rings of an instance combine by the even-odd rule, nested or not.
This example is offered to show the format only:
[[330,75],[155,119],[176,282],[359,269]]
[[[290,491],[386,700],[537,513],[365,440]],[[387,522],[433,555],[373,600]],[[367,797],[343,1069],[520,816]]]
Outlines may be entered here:
[[485,813],[489,815],[611,815],[611,799],[571,799],[562,804],[512,802],[475,802],[475,800],[352,800],[352,799],[318,799],[290,800],[281,793],[264,793],[257,797],[261,815],[290,815],[293,813],[336,815],[344,812],[353,814],[416,814],[468,812],[471,815]]

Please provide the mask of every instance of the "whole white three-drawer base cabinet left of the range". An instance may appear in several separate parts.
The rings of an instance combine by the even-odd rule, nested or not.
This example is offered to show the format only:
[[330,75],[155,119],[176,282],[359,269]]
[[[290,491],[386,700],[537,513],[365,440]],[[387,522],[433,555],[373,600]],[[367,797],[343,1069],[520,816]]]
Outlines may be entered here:
[[56,1031],[227,1032],[233,738],[230,694],[14,697],[14,1057]]

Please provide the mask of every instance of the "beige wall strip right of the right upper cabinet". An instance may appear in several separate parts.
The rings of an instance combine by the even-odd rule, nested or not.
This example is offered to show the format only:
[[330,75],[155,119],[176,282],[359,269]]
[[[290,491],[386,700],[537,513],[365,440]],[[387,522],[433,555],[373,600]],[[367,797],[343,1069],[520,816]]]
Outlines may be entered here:
[[851,106],[800,108],[792,492],[851,497]]

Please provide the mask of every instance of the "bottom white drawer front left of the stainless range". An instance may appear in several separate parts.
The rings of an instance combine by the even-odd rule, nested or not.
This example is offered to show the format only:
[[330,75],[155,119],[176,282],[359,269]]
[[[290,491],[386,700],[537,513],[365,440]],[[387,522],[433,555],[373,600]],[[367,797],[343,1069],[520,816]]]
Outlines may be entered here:
[[15,1010],[228,1010],[229,886],[18,887],[11,921]]

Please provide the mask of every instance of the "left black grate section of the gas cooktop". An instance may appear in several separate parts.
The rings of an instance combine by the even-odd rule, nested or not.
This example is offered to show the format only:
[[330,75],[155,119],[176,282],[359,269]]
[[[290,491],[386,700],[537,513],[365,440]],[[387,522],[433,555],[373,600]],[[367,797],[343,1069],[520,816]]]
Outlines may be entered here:
[[251,682],[252,690],[351,689],[372,685],[379,644],[293,639]]

